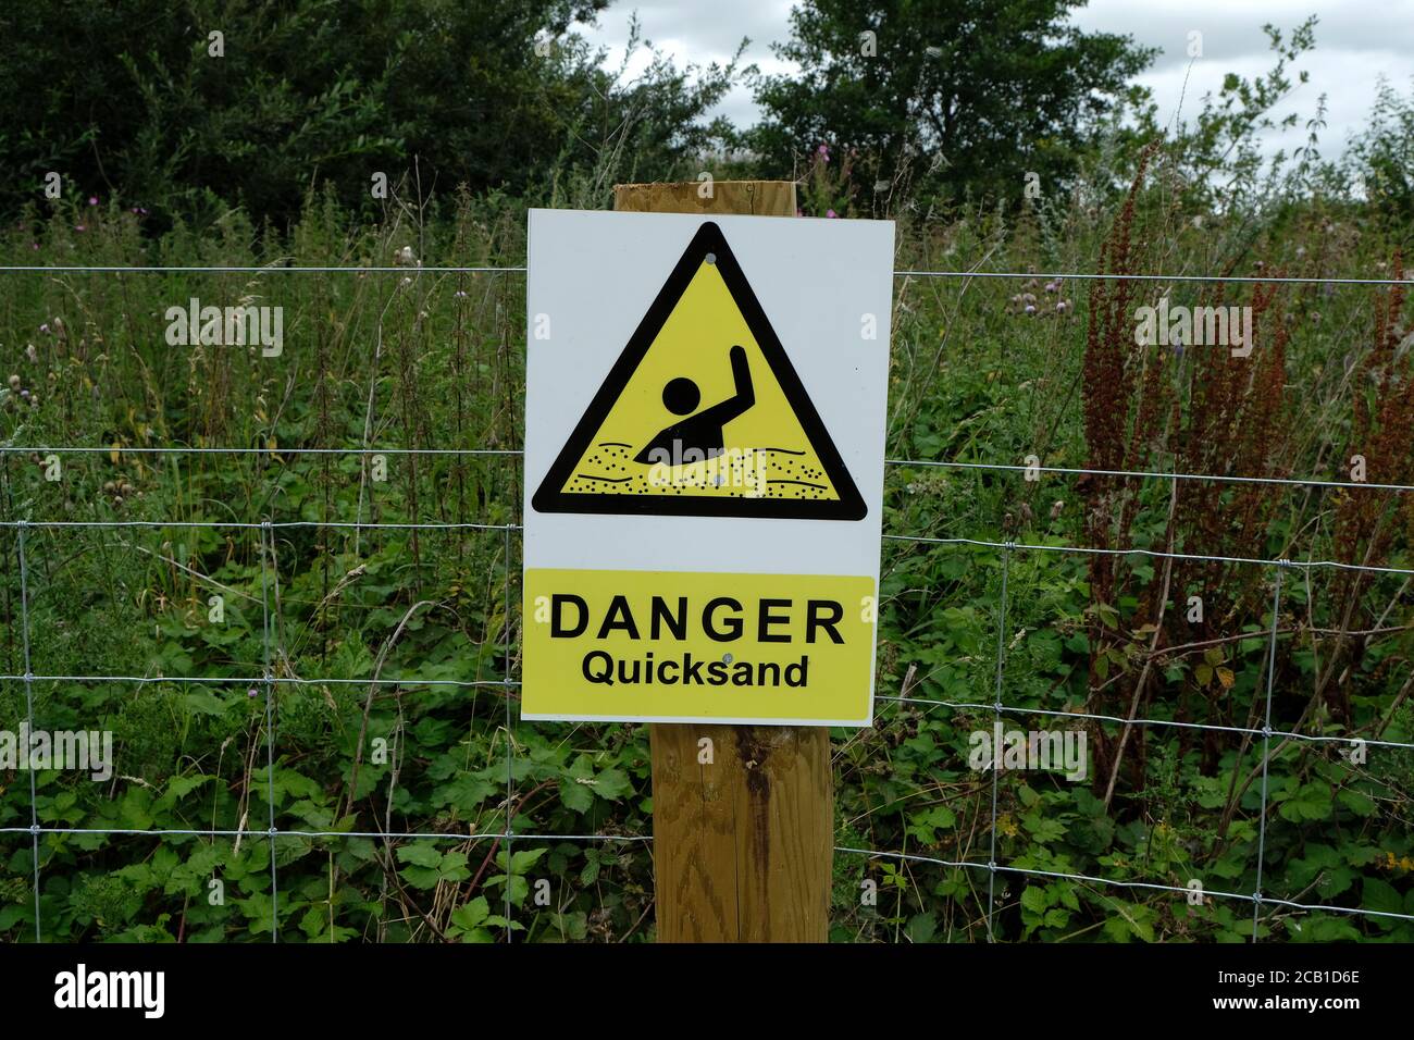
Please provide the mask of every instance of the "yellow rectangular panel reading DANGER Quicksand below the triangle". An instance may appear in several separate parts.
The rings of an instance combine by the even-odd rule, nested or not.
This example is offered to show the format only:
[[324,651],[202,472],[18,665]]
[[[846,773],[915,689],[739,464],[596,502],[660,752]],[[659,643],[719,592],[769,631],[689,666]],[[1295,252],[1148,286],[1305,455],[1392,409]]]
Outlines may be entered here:
[[527,573],[534,717],[858,724],[874,582],[822,574]]

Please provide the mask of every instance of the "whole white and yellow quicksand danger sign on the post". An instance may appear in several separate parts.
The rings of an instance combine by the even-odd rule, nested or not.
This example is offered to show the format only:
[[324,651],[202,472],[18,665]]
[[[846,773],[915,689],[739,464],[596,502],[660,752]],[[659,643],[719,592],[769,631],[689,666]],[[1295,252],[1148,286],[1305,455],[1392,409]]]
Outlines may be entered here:
[[522,717],[872,717],[894,226],[530,214]]

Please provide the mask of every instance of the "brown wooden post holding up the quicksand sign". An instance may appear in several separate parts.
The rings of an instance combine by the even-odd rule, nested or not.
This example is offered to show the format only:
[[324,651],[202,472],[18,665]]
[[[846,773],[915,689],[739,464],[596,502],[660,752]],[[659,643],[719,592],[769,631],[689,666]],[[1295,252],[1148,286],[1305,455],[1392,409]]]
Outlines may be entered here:
[[[618,184],[614,208],[795,216],[796,195],[792,181],[717,181],[707,192],[699,183]],[[824,942],[834,860],[830,732],[655,723],[649,740],[658,940]]]

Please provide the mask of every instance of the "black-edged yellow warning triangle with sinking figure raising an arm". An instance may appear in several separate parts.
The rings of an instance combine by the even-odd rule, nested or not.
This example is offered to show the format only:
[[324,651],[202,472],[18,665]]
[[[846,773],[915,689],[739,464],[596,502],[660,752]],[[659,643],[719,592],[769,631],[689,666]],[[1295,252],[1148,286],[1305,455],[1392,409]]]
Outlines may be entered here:
[[715,224],[697,229],[530,504],[863,519],[864,499]]

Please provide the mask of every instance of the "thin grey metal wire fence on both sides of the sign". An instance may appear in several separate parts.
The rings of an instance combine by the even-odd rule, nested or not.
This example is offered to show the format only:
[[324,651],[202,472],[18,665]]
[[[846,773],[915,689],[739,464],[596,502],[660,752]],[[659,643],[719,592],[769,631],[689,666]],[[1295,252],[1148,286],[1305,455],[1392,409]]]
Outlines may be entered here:
[[[93,273],[403,273],[403,275],[419,275],[419,273],[523,273],[525,267],[516,266],[221,266],[221,267],[199,267],[199,266],[0,266],[0,273],[17,272],[17,273],[44,273],[44,272],[93,272]],[[1362,284],[1362,286],[1394,286],[1394,284],[1414,284],[1411,279],[1329,279],[1329,277],[1236,277],[1236,276],[1167,276],[1167,275],[1097,275],[1097,273],[1065,273],[1042,276],[1034,272],[977,272],[977,270],[896,270],[895,277],[957,277],[957,279],[971,279],[971,277],[994,277],[994,279],[1032,279],[1032,277],[1060,277],[1073,280],[1089,280],[1089,279],[1128,279],[1128,280],[1143,280],[1143,282],[1249,282],[1249,283],[1291,283],[1291,284]],[[201,446],[52,446],[52,444],[0,444],[0,458],[6,454],[33,454],[33,453],[59,453],[59,454],[197,454],[197,456],[263,456],[271,458],[280,458],[286,456],[452,456],[452,457],[506,457],[516,458],[523,453],[515,449],[413,449],[413,447],[201,447]],[[1257,475],[1233,475],[1233,474],[1200,474],[1200,473],[1165,473],[1165,471],[1143,471],[1143,470],[1090,470],[1090,468],[1072,468],[1072,467],[1051,467],[1051,466],[1028,466],[1015,463],[980,463],[980,461],[964,461],[964,460],[926,460],[926,458],[887,458],[887,466],[894,467],[942,467],[942,468],[959,468],[959,470],[978,470],[978,471],[994,471],[994,473],[1018,473],[1024,471],[1028,474],[1062,474],[1062,475],[1093,475],[1093,477],[1114,477],[1127,480],[1157,480],[1157,481],[1215,481],[1215,483],[1229,483],[1229,484],[1268,484],[1268,485],[1287,485],[1287,487],[1309,487],[1309,488],[1340,488],[1340,490],[1360,490],[1360,491],[1386,491],[1386,492],[1408,492],[1414,491],[1414,485],[1408,484],[1379,484],[1379,483],[1363,483],[1363,481],[1340,481],[1340,480],[1325,480],[1325,478],[1275,478],[1275,477],[1257,477]],[[20,675],[0,675],[0,681],[20,682],[25,692],[25,710],[27,710],[27,724],[30,732],[35,729],[35,712],[34,712],[34,686],[40,682],[117,682],[117,683],[230,683],[249,688],[262,688],[264,691],[264,730],[266,730],[266,782],[267,791],[271,794],[269,801],[269,822],[266,831],[257,829],[199,829],[199,828],[76,828],[76,826],[58,826],[52,824],[41,824],[38,815],[38,794],[37,781],[34,770],[30,773],[30,826],[0,826],[0,833],[10,835],[30,835],[31,838],[31,853],[33,853],[33,894],[34,894],[34,921],[35,921],[35,941],[42,941],[44,928],[41,920],[41,872],[40,872],[40,839],[44,835],[122,835],[122,836],[153,836],[153,838],[266,838],[270,840],[270,884],[271,884],[271,941],[279,941],[280,925],[279,925],[279,869],[276,863],[274,843],[280,838],[307,838],[307,839],[349,839],[349,838],[365,838],[376,839],[382,842],[392,840],[433,840],[433,842],[469,842],[469,840],[493,840],[502,842],[506,849],[508,862],[510,848],[515,842],[619,842],[619,843],[642,843],[650,845],[652,836],[648,835],[617,835],[617,833],[529,833],[513,829],[515,824],[515,744],[509,739],[513,727],[513,712],[512,712],[512,691],[519,688],[519,681],[513,679],[510,675],[510,642],[513,640],[515,625],[512,623],[512,567],[510,562],[513,559],[513,536],[515,532],[522,531],[519,524],[478,524],[478,522],[383,522],[383,521],[276,521],[276,519],[262,519],[259,522],[240,522],[240,521],[28,521],[28,519],[6,519],[0,521],[0,528],[13,529],[16,533],[17,546],[17,567],[20,577],[20,628],[21,628],[21,645],[23,645],[23,664],[24,672]],[[30,563],[31,563],[31,549],[28,548],[28,533],[35,529],[62,529],[62,528],[221,528],[221,529],[247,529],[259,532],[259,556],[260,556],[260,590],[262,590],[262,661],[263,671],[260,675],[255,676],[141,676],[141,675],[51,675],[51,674],[34,674],[31,671],[31,618],[30,618]],[[503,553],[506,562],[506,577],[503,587],[503,604],[505,611],[505,641],[508,647],[506,668],[503,669],[503,676],[501,679],[447,679],[447,678],[421,678],[421,676],[383,676],[372,675],[368,678],[298,678],[293,675],[277,675],[274,671],[274,659],[279,652],[277,645],[277,624],[279,624],[279,569],[273,563],[274,557],[274,532],[287,528],[325,528],[325,529],[356,529],[356,531],[376,531],[376,529],[399,529],[399,531],[451,531],[451,529],[469,529],[482,532],[502,532],[503,539]],[[1058,720],[1069,722],[1094,722],[1094,723],[1111,723],[1124,726],[1126,730],[1130,727],[1169,727],[1178,730],[1192,730],[1192,732],[1220,732],[1229,734],[1239,734],[1243,737],[1250,737],[1253,740],[1261,739],[1261,801],[1258,809],[1258,838],[1257,838],[1257,859],[1256,859],[1256,877],[1257,883],[1254,891],[1239,893],[1239,891],[1225,891],[1203,887],[1202,896],[1216,897],[1223,900],[1232,900],[1236,903],[1250,903],[1251,906],[1251,938],[1258,940],[1258,925],[1261,920],[1261,911],[1264,907],[1270,908],[1287,908],[1294,911],[1309,911],[1309,913],[1333,913],[1346,915],[1360,915],[1360,917],[1377,917],[1389,920],[1414,921],[1414,914],[1394,913],[1394,911],[1380,911],[1372,910],[1369,907],[1352,907],[1352,906],[1336,906],[1336,904],[1309,904],[1301,903],[1298,900],[1280,899],[1267,894],[1261,890],[1261,879],[1266,860],[1266,836],[1267,836],[1267,818],[1271,808],[1268,798],[1268,764],[1274,756],[1271,746],[1273,737],[1281,740],[1281,744],[1275,749],[1281,750],[1288,741],[1308,741],[1314,744],[1349,744],[1349,746],[1363,746],[1363,747],[1386,747],[1397,750],[1414,750],[1414,743],[1404,743],[1397,740],[1379,740],[1379,739],[1365,739],[1365,737],[1346,737],[1346,736],[1328,736],[1328,734],[1312,734],[1301,733],[1297,730],[1284,730],[1273,726],[1271,719],[1271,703],[1273,703],[1273,681],[1275,674],[1275,655],[1278,642],[1278,618],[1282,604],[1282,582],[1284,576],[1292,570],[1312,570],[1312,569],[1338,569],[1349,572],[1367,572],[1380,574],[1404,574],[1414,576],[1414,567],[1393,567],[1393,566],[1376,566],[1369,563],[1355,563],[1345,560],[1316,560],[1316,559],[1261,559],[1261,557],[1243,557],[1243,556],[1220,556],[1220,555],[1203,555],[1203,553],[1181,553],[1181,552],[1165,552],[1150,549],[1145,546],[1133,548],[1099,548],[1099,546],[1083,546],[1083,545],[1062,545],[1062,543],[1021,543],[1017,541],[988,541],[976,538],[932,538],[921,535],[908,533],[885,533],[882,536],[885,541],[906,542],[923,546],[977,546],[1000,550],[1001,555],[1001,586],[1000,596],[995,603],[997,616],[997,666],[995,666],[995,685],[994,685],[994,700],[991,703],[986,702],[969,702],[969,700],[937,700],[919,696],[909,696],[908,691],[904,695],[894,696],[885,693],[877,693],[875,699],[901,703],[901,705],[918,705],[923,707],[945,707],[952,710],[983,710],[991,712],[995,723],[1000,726],[1004,715],[1027,715],[1027,716],[1046,716],[1055,717]],[[1271,596],[1271,624],[1267,631],[1266,642],[1266,692],[1264,692],[1264,712],[1263,724],[1256,726],[1219,726],[1210,723],[1198,723],[1178,719],[1152,719],[1131,715],[1128,717],[1090,713],[1083,710],[1048,710],[1042,707],[1034,707],[1027,705],[1007,705],[1004,700],[1005,691],[1005,661],[1008,657],[1007,647],[1007,624],[1008,624],[1008,607],[1010,607],[1010,569],[1011,560],[1015,553],[1068,553],[1079,556],[1093,556],[1093,555],[1107,555],[1107,556],[1143,556],[1155,559],[1172,559],[1172,560],[1192,560],[1192,562],[1210,562],[1210,563],[1234,563],[1244,566],[1260,566],[1270,567],[1273,570],[1273,596]],[[271,600],[274,606],[271,606]],[[1246,637],[1256,638],[1256,637]],[[276,825],[276,804],[274,804],[274,775],[276,775],[276,698],[277,689],[280,686],[307,686],[307,685],[327,685],[327,683],[349,683],[349,685],[393,685],[393,686],[454,686],[454,688],[501,688],[502,700],[505,705],[505,719],[503,724],[506,727],[506,775],[505,775],[505,826],[499,831],[436,831],[436,832],[390,832],[385,829],[378,831],[328,831],[328,829],[291,829],[279,828]],[[1085,884],[1106,886],[1114,889],[1133,889],[1143,891],[1161,891],[1172,893],[1178,896],[1191,896],[1192,890],[1188,887],[1162,884],[1154,882],[1138,882],[1138,880],[1124,880],[1124,879],[1109,879],[1099,877],[1083,873],[1070,873],[1059,870],[1041,870],[1036,867],[1018,866],[1014,863],[1000,863],[997,862],[997,833],[998,833],[998,804],[1000,804],[1000,768],[1001,749],[993,750],[993,764],[991,771],[991,812],[990,812],[990,835],[988,835],[988,856],[986,862],[981,860],[949,860],[933,856],[925,856],[918,853],[895,852],[895,850],[881,850],[881,849],[864,849],[854,848],[848,845],[834,846],[834,852],[850,855],[850,856],[867,856],[870,859],[887,859],[908,863],[923,863],[950,869],[962,870],[977,870],[987,874],[987,917],[986,917],[986,932],[988,941],[995,941],[995,914],[997,914],[997,876],[1011,874],[1017,877],[1034,877],[1034,879],[1051,879],[1051,880],[1069,880]],[[505,918],[510,921],[512,907],[510,907],[510,886],[506,886],[506,907]],[[505,930],[506,941],[513,941],[512,928]]]

